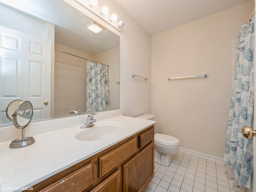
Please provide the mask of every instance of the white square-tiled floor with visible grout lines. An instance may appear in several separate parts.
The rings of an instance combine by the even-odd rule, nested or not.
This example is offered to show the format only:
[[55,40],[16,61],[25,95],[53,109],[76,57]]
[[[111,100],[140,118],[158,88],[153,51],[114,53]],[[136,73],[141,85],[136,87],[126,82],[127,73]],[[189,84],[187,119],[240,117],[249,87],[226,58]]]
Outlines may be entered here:
[[224,164],[178,152],[169,167],[155,163],[154,178],[145,192],[235,192]]

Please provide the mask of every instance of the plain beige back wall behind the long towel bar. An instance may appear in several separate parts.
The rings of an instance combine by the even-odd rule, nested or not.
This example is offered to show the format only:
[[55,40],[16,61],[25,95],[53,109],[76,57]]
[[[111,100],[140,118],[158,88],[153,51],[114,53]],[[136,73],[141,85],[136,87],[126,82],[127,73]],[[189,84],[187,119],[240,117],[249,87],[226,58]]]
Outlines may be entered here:
[[[254,1],[152,36],[152,113],[156,132],[180,147],[223,158],[232,92],[232,40]],[[208,78],[168,81],[168,77]]]

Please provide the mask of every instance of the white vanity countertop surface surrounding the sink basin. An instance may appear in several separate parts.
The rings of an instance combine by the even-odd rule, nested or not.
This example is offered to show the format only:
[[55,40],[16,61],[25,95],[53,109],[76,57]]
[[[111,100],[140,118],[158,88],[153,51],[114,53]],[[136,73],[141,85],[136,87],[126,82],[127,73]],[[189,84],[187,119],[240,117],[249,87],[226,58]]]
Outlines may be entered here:
[[[97,120],[94,123],[95,126],[97,123],[115,122],[123,124],[126,128],[115,136],[97,141],[77,140],[76,134],[83,131],[80,129],[82,124],[77,125],[77,123],[72,127],[57,128],[57,130],[36,135],[27,135],[25,128],[25,136],[33,136],[36,140],[34,144],[13,149],[9,148],[11,140],[0,142],[0,192],[25,190],[26,187],[33,186],[155,123],[151,120],[122,115],[107,119],[100,118],[102,120],[97,120],[97,116],[94,116]],[[77,118],[78,121],[80,119],[84,120],[84,117]],[[63,120],[67,121],[68,118]],[[54,121],[50,124],[54,126],[53,129],[58,126]]]

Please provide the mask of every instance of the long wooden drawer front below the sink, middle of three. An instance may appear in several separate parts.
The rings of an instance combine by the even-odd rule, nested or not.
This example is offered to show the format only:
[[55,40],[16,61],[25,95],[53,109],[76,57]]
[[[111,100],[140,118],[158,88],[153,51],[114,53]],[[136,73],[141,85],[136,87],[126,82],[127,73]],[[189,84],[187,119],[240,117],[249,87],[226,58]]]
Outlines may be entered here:
[[126,142],[122,146],[100,157],[100,177],[122,165],[128,158],[138,151],[137,138]]

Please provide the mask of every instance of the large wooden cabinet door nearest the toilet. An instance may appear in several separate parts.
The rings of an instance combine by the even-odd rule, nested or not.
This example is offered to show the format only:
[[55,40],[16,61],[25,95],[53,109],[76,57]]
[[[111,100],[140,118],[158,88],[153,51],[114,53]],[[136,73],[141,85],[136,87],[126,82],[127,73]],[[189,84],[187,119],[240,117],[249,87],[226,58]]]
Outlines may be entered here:
[[124,192],[142,191],[154,176],[154,142],[123,166]]

